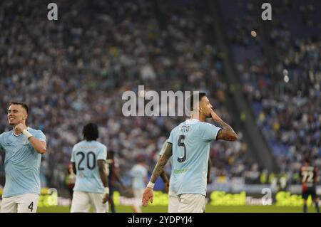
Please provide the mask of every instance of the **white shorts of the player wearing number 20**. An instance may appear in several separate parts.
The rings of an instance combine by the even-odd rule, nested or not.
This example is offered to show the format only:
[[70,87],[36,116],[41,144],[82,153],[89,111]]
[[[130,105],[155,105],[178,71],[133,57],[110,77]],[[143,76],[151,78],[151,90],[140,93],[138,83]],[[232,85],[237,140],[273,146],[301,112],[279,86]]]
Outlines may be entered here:
[[73,201],[71,201],[71,213],[89,212],[90,206],[95,213],[108,212],[108,203],[103,204],[101,193],[90,193],[86,191],[73,191]]

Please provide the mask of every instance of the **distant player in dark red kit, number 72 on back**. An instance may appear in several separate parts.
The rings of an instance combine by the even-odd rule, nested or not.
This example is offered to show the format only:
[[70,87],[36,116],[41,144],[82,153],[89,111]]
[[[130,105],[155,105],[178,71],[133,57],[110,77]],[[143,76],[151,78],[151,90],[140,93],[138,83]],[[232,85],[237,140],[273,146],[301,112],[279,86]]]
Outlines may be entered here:
[[300,168],[300,179],[302,184],[303,212],[307,213],[307,198],[311,195],[317,213],[320,213],[319,197],[317,197],[316,192],[316,184],[319,180],[317,168],[310,165],[310,159],[308,158],[305,158],[305,163]]

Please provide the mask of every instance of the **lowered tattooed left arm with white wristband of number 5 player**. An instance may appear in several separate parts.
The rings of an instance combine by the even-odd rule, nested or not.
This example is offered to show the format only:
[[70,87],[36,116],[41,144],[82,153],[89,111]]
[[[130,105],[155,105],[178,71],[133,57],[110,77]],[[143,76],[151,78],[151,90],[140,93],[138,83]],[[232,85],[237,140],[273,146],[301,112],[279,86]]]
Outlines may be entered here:
[[145,191],[143,192],[143,199],[142,199],[143,206],[148,206],[148,201],[151,201],[151,203],[153,204],[154,184],[156,182],[156,179],[158,179],[158,176],[160,176],[161,172],[163,171],[163,169],[165,167],[165,164],[168,162],[168,159],[170,159],[172,154],[173,154],[172,144],[167,143],[165,146],[165,151],[164,151],[163,155],[161,156],[161,158],[158,159],[156,167],[153,170],[153,174],[151,176],[151,179],[150,179],[148,185],[146,186]]

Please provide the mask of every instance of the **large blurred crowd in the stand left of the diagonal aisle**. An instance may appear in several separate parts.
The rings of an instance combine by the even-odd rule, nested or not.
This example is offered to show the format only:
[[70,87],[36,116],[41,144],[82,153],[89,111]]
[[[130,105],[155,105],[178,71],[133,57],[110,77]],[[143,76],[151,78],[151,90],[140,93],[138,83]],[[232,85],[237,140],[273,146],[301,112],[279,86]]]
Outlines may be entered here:
[[[223,120],[232,122],[223,65],[205,40],[207,22],[192,8],[164,4],[159,12],[150,1],[56,1],[59,20],[48,21],[42,1],[17,2],[1,2],[0,132],[10,130],[9,102],[26,102],[27,124],[47,137],[42,186],[63,187],[86,122],[99,125],[100,141],[116,152],[125,183],[138,154],[154,166],[162,142],[184,119],[123,117],[121,95],[137,92],[138,85],[205,91]],[[160,23],[159,13],[167,21]],[[210,155],[213,174],[243,176],[252,168],[242,139],[215,142]]]

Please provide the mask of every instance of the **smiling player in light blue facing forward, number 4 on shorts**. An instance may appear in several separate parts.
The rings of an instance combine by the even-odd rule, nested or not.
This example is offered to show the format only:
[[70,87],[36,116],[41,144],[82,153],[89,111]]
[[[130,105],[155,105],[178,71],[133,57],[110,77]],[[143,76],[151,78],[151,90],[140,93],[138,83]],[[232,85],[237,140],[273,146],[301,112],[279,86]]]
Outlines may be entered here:
[[11,102],[8,122],[13,130],[0,134],[0,151],[6,152],[6,184],[1,213],[35,213],[40,194],[41,154],[46,153],[46,136],[26,127],[29,107]]

